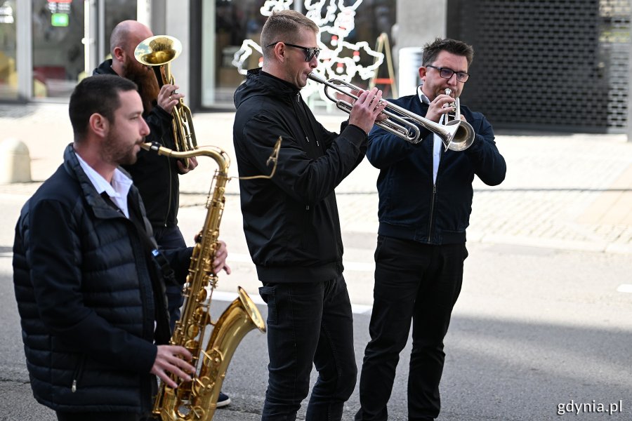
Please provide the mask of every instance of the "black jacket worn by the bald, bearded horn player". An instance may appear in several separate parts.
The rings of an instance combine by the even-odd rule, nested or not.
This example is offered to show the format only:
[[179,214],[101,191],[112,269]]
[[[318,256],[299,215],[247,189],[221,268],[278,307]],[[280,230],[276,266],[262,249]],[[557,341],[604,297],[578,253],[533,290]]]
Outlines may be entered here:
[[[93,74],[117,74],[112,70],[112,59],[101,63]],[[145,113],[144,117],[150,127],[150,134],[145,141],[159,142],[160,145],[175,150],[171,114],[154,104],[152,111]],[[124,168],[131,174],[134,185],[143,198],[152,227],[175,226],[178,223],[180,206],[178,160],[141,149],[138,152],[138,161]]]

